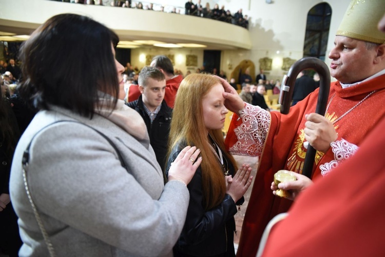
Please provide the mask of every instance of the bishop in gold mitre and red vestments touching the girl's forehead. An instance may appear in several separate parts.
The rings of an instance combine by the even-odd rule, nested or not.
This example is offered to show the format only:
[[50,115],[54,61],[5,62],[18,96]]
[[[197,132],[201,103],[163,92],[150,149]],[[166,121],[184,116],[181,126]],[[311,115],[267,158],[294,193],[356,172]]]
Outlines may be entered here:
[[331,75],[338,81],[331,84],[325,117],[314,113],[319,89],[281,115],[245,105],[222,81],[226,107],[240,114],[240,119],[233,116],[226,136],[230,152],[261,156],[238,256],[255,256],[267,223],[292,204],[272,194],[274,173],[301,173],[307,144],[317,150],[313,179],[333,172],[385,115],[385,35],[376,26],[384,9],[382,0],[353,1],[349,6],[329,54]]

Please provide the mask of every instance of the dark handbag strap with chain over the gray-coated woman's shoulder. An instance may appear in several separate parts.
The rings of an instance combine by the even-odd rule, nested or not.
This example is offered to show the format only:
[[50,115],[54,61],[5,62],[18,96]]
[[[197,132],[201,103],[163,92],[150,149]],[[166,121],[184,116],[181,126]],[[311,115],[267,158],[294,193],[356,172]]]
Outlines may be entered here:
[[79,121],[74,121],[74,120],[60,120],[60,121],[55,121],[51,124],[48,124],[46,126],[44,126],[43,128],[41,128],[38,132],[36,132],[36,134],[31,138],[31,141],[29,142],[26,150],[24,151],[23,153],[23,158],[22,158],[22,167],[23,167],[23,180],[24,180],[24,187],[25,187],[25,190],[27,192],[27,196],[28,196],[28,200],[29,200],[29,203],[31,204],[31,207],[32,207],[32,210],[33,210],[33,214],[36,218],[36,221],[37,221],[37,225],[39,226],[42,234],[43,234],[43,237],[44,237],[44,242],[46,243],[47,245],[47,248],[48,248],[48,252],[49,252],[49,255],[51,257],[54,257],[56,256],[55,254],[55,251],[53,249],[53,246],[52,246],[52,243],[48,237],[48,233],[46,231],[46,229],[44,228],[44,225],[43,225],[43,222],[42,222],[42,219],[40,217],[40,214],[38,213],[37,211],[37,208],[32,200],[32,197],[31,197],[31,193],[29,191],[29,186],[28,186],[28,182],[27,182],[27,171],[28,171],[28,165],[29,165],[29,152],[30,152],[30,148],[31,148],[31,144],[32,144],[32,141],[33,139],[40,133],[42,132],[43,130],[45,130],[47,127],[55,124],[55,123],[59,123],[59,122],[75,122],[75,123],[80,123],[80,124],[83,124],[89,128],[92,128],[92,130],[94,130],[95,132],[97,132],[99,135],[101,135],[102,137],[104,137],[110,144],[111,146],[113,147],[113,149],[117,152],[118,154],[118,157],[119,157],[119,160],[120,160],[120,163],[122,165],[123,168],[125,168],[127,170],[127,167],[126,167],[126,164],[124,163],[124,160],[123,160],[123,157],[121,156],[117,146],[111,141],[111,139],[109,139],[106,135],[104,135],[102,132],[98,131],[97,129],[85,124],[85,123],[82,123],[82,122],[79,122]]

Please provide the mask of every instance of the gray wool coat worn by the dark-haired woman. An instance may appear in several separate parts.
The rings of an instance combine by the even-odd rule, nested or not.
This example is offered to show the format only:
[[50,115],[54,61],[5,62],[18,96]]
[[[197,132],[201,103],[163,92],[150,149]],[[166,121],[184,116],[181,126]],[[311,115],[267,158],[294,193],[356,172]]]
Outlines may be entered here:
[[48,256],[28,201],[22,156],[37,134],[27,171],[32,199],[57,256],[172,256],[185,222],[189,193],[180,181],[163,186],[148,141],[139,142],[108,119],[92,120],[66,109],[41,111],[20,139],[12,163],[10,194],[24,245],[20,256]]

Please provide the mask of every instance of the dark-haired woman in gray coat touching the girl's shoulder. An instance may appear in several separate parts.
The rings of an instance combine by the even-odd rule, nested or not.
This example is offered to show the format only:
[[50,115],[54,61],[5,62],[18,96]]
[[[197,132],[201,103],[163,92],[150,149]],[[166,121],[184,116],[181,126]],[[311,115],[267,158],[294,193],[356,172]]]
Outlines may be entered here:
[[20,93],[40,112],[11,170],[20,256],[171,255],[201,157],[187,146],[164,186],[142,118],[119,100],[117,42],[88,17],[60,14],[22,46]]

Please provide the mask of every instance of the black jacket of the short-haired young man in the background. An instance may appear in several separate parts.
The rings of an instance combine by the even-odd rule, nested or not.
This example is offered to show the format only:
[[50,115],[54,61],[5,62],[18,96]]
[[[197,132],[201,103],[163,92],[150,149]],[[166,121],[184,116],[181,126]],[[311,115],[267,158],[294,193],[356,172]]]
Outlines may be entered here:
[[[157,156],[157,161],[160,167],[164,171],[166,168],[165,164],[167,158],[168,135],[170,133],[172,109],[168,107],[166,102],[163,100],[161,109],[151,124],[150,117],[147,115],[143,107],[142,95],[139,96],[138,100],[126,103],[126,105],[135,109],[140,116],[142,116],[144,123],[146,123],[147,126],[150,144],[155,152],[155,155]],[[167,182],[166,178],[164,182]]]

